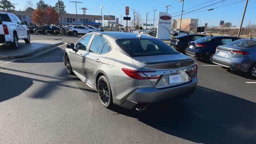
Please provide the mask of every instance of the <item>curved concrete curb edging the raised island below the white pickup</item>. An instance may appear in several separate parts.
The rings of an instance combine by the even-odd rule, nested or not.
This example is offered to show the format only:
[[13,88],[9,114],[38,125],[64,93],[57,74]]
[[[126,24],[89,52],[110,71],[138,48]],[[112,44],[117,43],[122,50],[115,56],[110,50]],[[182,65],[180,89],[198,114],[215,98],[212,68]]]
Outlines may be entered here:
[[24,58],[38,56],[40,54],[44,54],[46,52],[54,50],[55,48],[57,48],[57,46],[60,46],[62,44],[64,44],[64,42],[48,44],[47,46],[43,46],[41,48],[37,48],[35,50],[31,50],[31,51],[25,52],[23,54],[0,56],[0,60],[17,60],[17,59],[24,59]]

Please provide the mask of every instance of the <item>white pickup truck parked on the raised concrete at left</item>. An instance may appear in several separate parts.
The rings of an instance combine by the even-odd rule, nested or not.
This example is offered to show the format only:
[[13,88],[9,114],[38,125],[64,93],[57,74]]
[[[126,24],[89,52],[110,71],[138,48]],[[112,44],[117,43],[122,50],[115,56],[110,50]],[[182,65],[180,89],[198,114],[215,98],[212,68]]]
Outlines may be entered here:
[[0,43],[9,43],[12,48],[19,48],[18,40],[30,43],[28,27],[20,19],[8,12],[0,12]]

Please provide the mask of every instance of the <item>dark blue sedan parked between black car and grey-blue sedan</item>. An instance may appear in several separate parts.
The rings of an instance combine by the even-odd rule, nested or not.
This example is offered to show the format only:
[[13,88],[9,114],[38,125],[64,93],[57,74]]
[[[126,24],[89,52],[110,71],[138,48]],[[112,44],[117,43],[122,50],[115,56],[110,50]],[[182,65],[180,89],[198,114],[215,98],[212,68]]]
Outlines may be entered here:
[[217,46],[228,44],[238,39],[240,38],[233,36],[205,36],[189,42],[186,54],[196,58],[206,58],[212,62],[212,56],[215,54]]

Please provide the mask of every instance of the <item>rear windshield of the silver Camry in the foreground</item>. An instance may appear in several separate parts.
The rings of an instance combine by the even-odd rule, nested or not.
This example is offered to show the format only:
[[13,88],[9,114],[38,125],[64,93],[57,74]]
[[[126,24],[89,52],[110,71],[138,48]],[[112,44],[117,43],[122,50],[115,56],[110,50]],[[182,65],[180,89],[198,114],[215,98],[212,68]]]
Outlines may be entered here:
[[153,56],[164,54],[179,54],[162,40],[153,38],[118,39],[116,43],[132,57]]

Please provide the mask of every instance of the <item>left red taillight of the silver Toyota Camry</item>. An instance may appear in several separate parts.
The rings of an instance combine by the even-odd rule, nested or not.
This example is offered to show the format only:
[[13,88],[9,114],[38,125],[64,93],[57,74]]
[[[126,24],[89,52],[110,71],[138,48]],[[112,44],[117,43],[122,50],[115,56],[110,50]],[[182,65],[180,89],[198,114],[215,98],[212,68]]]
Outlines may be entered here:
[[161,75],[145,75],[144,73],[156,72],[156,71],[137,71],[137,70],[130,70],[128,68],[122,68],[122,71],[129,77],[134,79],[156,79],[160,78]]

